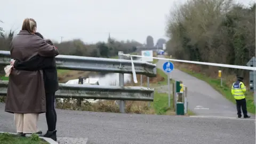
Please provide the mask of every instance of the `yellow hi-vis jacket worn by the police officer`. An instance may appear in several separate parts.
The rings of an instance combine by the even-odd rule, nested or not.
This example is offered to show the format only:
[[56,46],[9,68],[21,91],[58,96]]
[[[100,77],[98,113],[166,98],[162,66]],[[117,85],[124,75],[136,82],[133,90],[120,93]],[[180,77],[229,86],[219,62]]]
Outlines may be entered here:
[[244,93],[246,92],[246,87],[243,82],[235,82],[232,85],[231,93],[236,100],[241,100],[245,98]]

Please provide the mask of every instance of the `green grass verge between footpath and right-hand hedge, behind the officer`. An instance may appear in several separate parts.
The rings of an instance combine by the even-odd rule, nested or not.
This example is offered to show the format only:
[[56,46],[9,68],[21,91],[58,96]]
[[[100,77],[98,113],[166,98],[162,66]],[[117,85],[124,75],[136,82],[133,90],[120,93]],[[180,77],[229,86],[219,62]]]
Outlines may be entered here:
[[[193,71],[190,71],[185,68],[181,68],[180,70],[184,71],[185,73],[194,76],[198,79],[201,79],[205,81],[206,83],[209,83],[215,90],[219,91],[225,98],[230,100],[233,103],[236,103],[236,100],[234,99],[233,95],[231,94],[231,86],[227,85],[225,81],[222,81],[222,87],[220,86],[220,79],[214,79],[207,77],[202,74],[194,73]],[[255,105],[253,103],[253,93],[252,92],[246,92],[246,104],[247,104],[247,111],[249,111],[252,114],[255,114]]]

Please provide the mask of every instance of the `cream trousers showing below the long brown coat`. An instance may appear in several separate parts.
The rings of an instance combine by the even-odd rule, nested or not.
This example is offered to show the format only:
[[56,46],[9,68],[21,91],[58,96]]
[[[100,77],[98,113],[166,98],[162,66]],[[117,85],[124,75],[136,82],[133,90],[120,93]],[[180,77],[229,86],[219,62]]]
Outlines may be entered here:
[[14,122],[17,132],[36,133],[38,114],[17,114],[14,113]]

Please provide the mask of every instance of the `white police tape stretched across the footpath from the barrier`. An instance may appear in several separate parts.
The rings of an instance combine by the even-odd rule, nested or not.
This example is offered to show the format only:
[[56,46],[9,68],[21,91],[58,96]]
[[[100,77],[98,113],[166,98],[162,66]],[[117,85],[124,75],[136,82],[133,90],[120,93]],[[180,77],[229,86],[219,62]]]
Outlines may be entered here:
[[[153,58],[158,60],[167,60],[167,61],[177,61],[177,62],[185,62],[185,63],[194,63],[199,65],[207,65],[207,66],[217,66],[217,67],[226,67],[226,68],[237,68],[237,69],[246,69],[246,70],[255,70],[256,67],[247,67],[247,66],[237,66],[237,65],[226,65],[221,63],[211,63],[211,62],[199,62],[199,61],[188,61],[188,60],[177,60],[177,59],[166,59],[166,58],[157,58],[157,57],[146,57],[142,55],[130,55],[130,54],[123,54],[118,53],[118,55],[124,55],[126,57],[139,57],[139,58]],[[132,62],[133,65],[133,62]],[[135,70],[134,70],[135,71]],[[133,76],[134,77],[134,76]],[[137,80],[137,79],[136,79]]]

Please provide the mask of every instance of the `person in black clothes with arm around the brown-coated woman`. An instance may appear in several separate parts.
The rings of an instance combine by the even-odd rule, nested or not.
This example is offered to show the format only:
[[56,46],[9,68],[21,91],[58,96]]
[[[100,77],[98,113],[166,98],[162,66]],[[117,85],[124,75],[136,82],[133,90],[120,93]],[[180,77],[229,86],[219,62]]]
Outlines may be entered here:
[[[40,33],[35,33],[39,37],[43,38]],[[46,40],[47,43],[53,45],[50,39]],[[43,135],[43,137],[51,138],[57,141],[56,135],[56,123],[57,123],[57,114],[55,111],[55,92],[59,89],[57,68],[55,63],[55,57],[41,57],[36,55],[28,61],[19,61],[15,60],[13,63],[15,69],[21,70],[43,70],[44,77],[44,88],[45,88],[45,97],[46,97],[46,121],[48,130]]]

